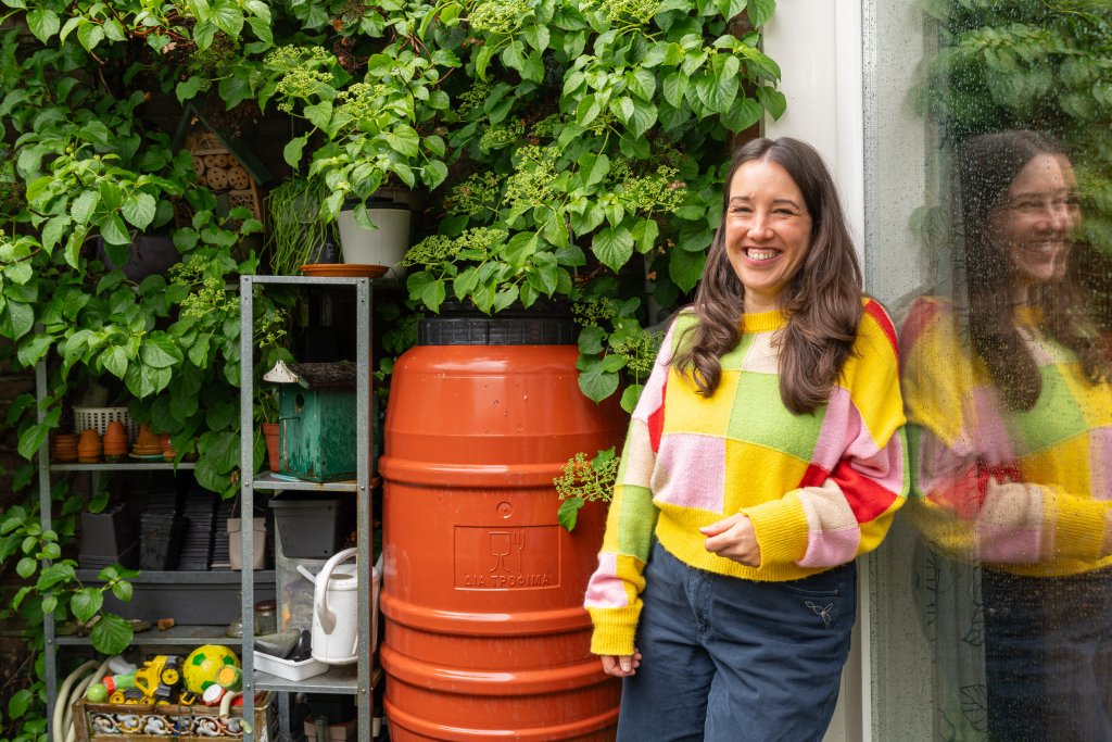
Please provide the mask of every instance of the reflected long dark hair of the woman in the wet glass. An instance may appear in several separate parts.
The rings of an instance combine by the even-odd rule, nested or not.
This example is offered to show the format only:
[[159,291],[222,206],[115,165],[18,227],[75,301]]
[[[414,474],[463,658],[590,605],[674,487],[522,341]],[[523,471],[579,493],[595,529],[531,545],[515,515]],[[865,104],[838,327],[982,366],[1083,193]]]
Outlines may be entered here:
[[[1020,170],[1039,155],[1065,157],[1050,139],[1026,130],[974,137],[959,155],[970,340],[1012,409],[1034,406],[1042,374],[1015,324],[1013,271],[1005,251],[992,243],[990,221]],[[1042,310],[1043,329],[1073,350],[1086,378],[1096,383],[1108,378],[1110,362],[1071,275],[1066,270],[1059,280],[1032,287],[1029,298]]]

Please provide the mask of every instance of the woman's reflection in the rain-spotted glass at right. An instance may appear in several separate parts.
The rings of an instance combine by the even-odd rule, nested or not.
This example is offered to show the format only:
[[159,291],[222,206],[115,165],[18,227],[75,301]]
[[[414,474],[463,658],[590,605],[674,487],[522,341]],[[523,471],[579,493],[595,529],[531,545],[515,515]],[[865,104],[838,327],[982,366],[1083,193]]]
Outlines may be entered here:
[[[963,290],[916,301],[902,334],[931,619],[967,619],[937,636],[937,667],[965,674],[941,679],[961,711],[940,732],[1112,740],[1112,359],[1066,271],[1075,180],[1026,131],[973,139],[957,167]],[[940,587],[947,560],[979,588]],[[954,659],[971,649],[984,686]]]

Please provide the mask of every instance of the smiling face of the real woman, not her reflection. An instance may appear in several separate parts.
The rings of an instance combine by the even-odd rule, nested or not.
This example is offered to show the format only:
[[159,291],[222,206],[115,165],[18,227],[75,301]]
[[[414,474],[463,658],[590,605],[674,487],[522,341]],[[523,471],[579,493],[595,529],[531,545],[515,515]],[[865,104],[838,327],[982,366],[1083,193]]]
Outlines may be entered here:
[[745,311],[776,309],[811,247],[811,215],[782,166],[751,160],[729,181],[726,257],[745,287]]

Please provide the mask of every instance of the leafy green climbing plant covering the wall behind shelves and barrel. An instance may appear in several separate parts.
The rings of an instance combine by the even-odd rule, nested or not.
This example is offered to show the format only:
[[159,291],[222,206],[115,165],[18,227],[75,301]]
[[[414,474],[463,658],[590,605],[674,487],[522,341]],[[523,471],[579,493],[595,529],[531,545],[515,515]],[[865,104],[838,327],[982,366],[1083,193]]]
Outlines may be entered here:
[[[251,364],[258,378],[288,359],[280,332],[292,300],[275,289],[256,297],[262,342],[240,358],[228,287],[257,273],[250,237],[264,225],[222,208],[175,148],[167,119],[186,102],[231,128],[260,116],[288,127],[289,182],[311,187],[308,205],[298,186],[271,196],[277,270],[292,273],[346,206],[370,227],[366,206],[383,186],[434,194],[424,221],[435,228],[408,257],[411,307],[395,307],[380,335],[387,356],[413,343],[413,309],[436,311],[449,297],[488,313],[569,299],[592,307],[580,316],[580,388],[599,400],[624,380],[632,409],[658,343],[643,329],[656,320],[646,287],[664,310],[693,289],[719,218],[728,141],[784,110],[758,31],[729,31],[759,28],[774,9],[0,0],[0,337],[12,367],[46,362],[50,389],[41,408],[27,396],[11,406],[19,452],[33,462],[67,397],[98,383],[169,433],[179,455],[196,454],[203,486],[234,492],[239,369]],[[309,226],[281,231],[284,195]],[[125,265],[136,236],[150,233],[172,235],[181,266],[137,281],[107,267]],[[386,357],[378,392],[389,373]],[[265,392],[259,419],[272,402]],[[256,466],[262,452],[258,438]],[[41,625],[36,612],[72,616],[112,649],[120,625],[54,554],[83,504],[58,493],[53,535],[32,533],[34,471],[16,476],[22,509],[0,514],[19,524],[0,536],[0,561],[26,573],[18,612],[30,626]],[[106,580],[126,590],[126,575]],[[41,732],[41,687],[29,679],[9,702],[8,721],[21,724],[13,738]]]

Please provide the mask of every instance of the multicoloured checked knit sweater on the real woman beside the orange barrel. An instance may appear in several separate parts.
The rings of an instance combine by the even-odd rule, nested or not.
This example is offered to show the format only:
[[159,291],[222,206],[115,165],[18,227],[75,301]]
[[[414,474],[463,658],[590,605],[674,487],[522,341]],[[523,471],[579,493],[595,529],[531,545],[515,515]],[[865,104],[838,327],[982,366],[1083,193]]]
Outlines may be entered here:
[[[745,315],[714,395],[671,365],[669,328],[634,410],[598,568],[584,601],[592,651],[629,654],[654,535],[698,570],[755,581],[806,577],[875,548],[907,482],[895,332],[865,299],[857,339],[826,406],[794,415],[780,396],[777,311]],[[761,547],[749,567],[706,551],[702,526],[745,513]]]

